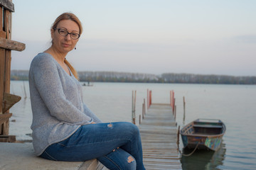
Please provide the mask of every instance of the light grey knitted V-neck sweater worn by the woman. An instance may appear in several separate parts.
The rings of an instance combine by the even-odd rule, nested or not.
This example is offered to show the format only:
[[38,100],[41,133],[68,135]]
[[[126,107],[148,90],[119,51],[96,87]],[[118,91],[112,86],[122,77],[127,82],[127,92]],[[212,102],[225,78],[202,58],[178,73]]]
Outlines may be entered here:
[[101,123],[83,103],[79,81],[48,53],[39,53],[31,62],[29,88],[36,155],[70,137],[81,125]]

